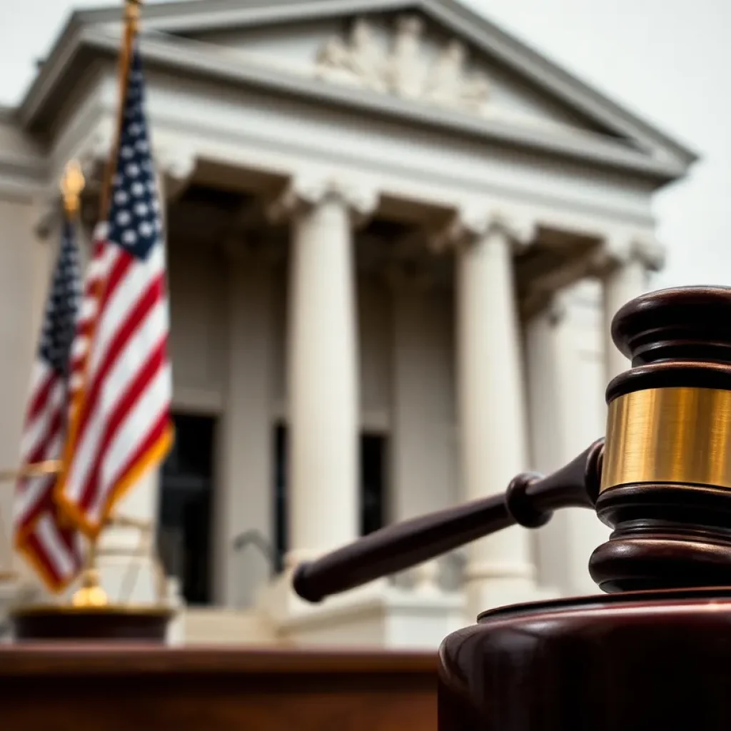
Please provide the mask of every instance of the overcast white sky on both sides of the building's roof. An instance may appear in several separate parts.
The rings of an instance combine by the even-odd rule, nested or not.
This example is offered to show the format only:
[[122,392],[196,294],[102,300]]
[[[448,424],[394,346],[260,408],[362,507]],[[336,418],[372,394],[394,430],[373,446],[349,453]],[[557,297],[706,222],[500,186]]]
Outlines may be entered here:
[[[465,1],[702,155],[656,199],[656,285],[731,285],[731,1]],[[104,4],[0,0],[0,103],[18,102],[73,7]]]

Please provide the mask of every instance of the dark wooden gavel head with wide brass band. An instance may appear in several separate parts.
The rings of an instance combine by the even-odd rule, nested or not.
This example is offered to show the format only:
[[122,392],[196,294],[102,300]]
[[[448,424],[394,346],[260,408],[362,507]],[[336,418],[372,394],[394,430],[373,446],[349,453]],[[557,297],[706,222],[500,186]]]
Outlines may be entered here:
[[604,591],[731,584],[731,289],[627,303],[613,341],[632,362],[607,387],[594,551]]

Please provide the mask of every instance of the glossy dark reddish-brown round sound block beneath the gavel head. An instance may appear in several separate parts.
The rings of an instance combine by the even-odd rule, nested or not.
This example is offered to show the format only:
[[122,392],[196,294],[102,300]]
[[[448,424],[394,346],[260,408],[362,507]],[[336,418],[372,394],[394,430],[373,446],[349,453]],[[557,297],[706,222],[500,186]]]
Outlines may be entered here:
[[731,728],[731,588],[501,607],[439,651],[439,731]]

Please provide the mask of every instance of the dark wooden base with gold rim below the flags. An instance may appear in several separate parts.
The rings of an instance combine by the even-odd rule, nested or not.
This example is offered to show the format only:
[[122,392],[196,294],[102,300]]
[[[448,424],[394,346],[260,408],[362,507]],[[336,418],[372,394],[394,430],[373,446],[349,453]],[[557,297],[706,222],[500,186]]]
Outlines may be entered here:
[[10,611],[15,639],[164,643],[167,607],[31,605]]

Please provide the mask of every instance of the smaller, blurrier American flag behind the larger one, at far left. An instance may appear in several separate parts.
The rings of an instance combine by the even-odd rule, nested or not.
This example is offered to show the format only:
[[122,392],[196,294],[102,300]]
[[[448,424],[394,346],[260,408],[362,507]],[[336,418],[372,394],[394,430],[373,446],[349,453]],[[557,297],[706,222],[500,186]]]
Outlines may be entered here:
[[[61,457],[69,415],[69,353],[81,295],[75,227],[64,221],[39,347],[31,375],[26,423],[20,445],[22,466]],[[82,545],[77,529],[53,499],[56,475],[22,477],[15,491],[15,544],[52,591],[77,575]]]

